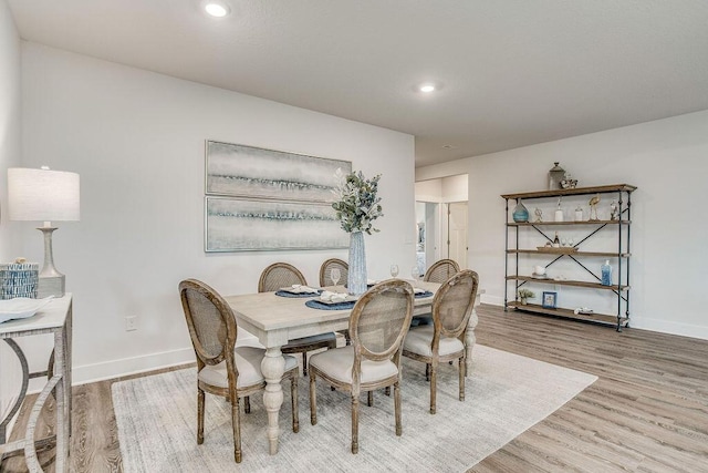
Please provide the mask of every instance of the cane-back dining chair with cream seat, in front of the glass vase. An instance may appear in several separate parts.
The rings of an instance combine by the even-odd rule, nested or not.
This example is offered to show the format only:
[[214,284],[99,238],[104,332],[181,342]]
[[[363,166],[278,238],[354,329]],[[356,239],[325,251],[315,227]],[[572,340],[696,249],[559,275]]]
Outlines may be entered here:
[[400,422],[400,353],[414,292],[409,282],[389,279],[360,297],[350,316],[352,345],[315,353],[310,359],[310,421],[317,423],[316,378],[352,397],[352,453],[358,452],[358,404],[362,392],[394,387],[396,435]]

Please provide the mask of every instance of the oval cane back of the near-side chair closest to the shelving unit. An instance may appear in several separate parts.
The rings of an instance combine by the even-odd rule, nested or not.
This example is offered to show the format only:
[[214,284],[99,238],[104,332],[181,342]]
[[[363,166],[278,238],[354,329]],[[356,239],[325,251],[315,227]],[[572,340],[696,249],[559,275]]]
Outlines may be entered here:
[[434,345],[440,336],[461,338],[475,307],[479,276],[465,269],[446,280],[433,299]]

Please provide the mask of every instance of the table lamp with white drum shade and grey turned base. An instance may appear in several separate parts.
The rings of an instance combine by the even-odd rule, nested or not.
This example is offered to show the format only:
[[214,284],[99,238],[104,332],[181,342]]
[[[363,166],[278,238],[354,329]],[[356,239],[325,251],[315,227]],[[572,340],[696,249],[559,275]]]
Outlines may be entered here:
[[8,169],[8,212],[11,220],[44,222],[44,265],[39,274],[38,297],[64,296],[64,275],[54,267],[52,222],[76,222],[80,216],[79,174],[11,167]]

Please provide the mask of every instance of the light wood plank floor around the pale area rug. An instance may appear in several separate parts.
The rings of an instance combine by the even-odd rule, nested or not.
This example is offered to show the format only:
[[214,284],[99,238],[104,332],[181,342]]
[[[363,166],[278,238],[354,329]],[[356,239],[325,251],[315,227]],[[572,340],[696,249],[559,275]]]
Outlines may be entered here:
[[[491,306],[478,313],[479,343],[600,379],[471,471],[708,472],[708,341]],[[112,382],[74,388],[72,472],[122,471]],[[20,463],[0,471],[25,471]]]

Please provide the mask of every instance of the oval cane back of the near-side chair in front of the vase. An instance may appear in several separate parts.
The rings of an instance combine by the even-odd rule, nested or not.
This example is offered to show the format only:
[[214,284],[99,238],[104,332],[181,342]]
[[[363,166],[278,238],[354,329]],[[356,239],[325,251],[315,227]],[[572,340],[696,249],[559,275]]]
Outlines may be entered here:
[[362,358],[391,359],[399,366],[413,302],[413,287],[400,279],[381,282],[360,297],[350,317],[355,371],[360,370]]

